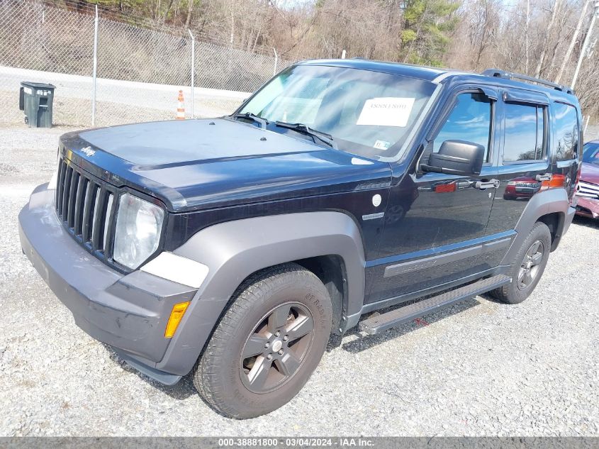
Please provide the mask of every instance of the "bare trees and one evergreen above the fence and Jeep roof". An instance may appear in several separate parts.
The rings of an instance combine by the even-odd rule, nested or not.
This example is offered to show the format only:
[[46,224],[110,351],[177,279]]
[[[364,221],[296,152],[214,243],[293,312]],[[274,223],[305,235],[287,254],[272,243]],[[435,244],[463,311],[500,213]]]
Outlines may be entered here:
[[[496,67],[571,82],[588,33],[587,0],[48,0],[69,9],[189,28],[250,52],[347,57],[481,72]],[[584,10],[584,11],[583,11]],[[581,19],[582,20],[579,20]],[[576,92],[599,116],[599,25]]]

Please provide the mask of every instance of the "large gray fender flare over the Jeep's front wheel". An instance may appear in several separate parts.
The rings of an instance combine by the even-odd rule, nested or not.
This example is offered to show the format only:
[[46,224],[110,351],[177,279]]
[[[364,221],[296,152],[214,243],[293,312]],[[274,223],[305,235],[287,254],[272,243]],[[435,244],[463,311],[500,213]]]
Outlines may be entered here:
[[199,231],[173,251],[208,266],[167,353],[156,367],[186,375],[237,287],[252,273],[292,260],[338,255],[345,265],[347,314],[364,302],[364,248],[357,224],[341,212],[244,218]]

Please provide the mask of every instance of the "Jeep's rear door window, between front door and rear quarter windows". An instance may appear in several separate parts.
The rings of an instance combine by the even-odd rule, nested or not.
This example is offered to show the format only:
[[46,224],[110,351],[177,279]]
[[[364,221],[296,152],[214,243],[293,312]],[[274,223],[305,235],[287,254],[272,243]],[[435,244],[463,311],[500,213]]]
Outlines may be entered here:
[[503,162],[545,157],[545,109],[534,104],[505,104]]

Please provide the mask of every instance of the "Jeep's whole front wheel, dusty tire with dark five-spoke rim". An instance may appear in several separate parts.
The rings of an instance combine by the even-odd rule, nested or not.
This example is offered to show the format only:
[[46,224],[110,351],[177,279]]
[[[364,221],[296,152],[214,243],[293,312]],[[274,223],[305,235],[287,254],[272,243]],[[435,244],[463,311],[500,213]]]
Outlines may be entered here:
[[332,306],[320,279],[295,263],[244,282],[194,369],[216,411],[253,418],[290,401],[325,352]]

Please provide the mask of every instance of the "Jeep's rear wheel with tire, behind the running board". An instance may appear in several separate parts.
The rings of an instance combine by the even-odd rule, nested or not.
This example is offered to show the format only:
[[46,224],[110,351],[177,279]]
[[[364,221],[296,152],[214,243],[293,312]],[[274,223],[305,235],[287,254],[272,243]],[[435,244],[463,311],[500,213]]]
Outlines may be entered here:
[[549,260],[552,236],[545,223],[537,221],[518,251],[508,275],[512,282],[491,294],[507,304],[519,304],[537,287]]

